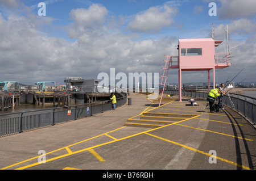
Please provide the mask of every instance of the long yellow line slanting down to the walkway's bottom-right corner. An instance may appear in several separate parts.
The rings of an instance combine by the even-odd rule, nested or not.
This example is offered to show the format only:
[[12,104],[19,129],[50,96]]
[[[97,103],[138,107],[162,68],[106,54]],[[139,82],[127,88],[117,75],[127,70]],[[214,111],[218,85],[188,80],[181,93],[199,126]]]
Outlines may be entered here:
[[204,151],[200,151],[200,150],[197,150],[195,148],[192,148],[190,146],[186,146],[186,145],[183,145],[183,144],[179,144],[178,142],[175,142],[175,141],[171,141],[171,140],[167,140],[166,138],[162,138],[162,137],[159,137],[159,136],[155,136],[154,134],[150,134],[150,133],[145,133],[145,134],[148,134],[149,136],[152,136],[152,137],[156,137],[156,138],[159,138],[160,140],[164,140],[164,141],[167,141],[167,142],[171,142],[172,144],[175,144],[175,145],[179,145],[183,148],[186,148],[186,149],[189,149],[189,150],[192,150],[192,151],[196,151],[198,153],[201,153],[201,154],[204,154],[204,155],[207,155],[208,157],[212,157],[212,158],[216,158],[220,161],[223,161],[223,162],[226,162],[226,163],[230,163],[234,166],[237,166],[237,167],[242,167],[243,169],[246,169],[246,170],[251,170],[250,167],[247,167],[247,166],[244,166],[244,165],[240,165],[236,162],[233,162],[233,161],[229,161],[228,159],[224,159],[224,158],[221,158],[221,157],[216,157],[212,154],[209,154],[209,153],[205,153]]

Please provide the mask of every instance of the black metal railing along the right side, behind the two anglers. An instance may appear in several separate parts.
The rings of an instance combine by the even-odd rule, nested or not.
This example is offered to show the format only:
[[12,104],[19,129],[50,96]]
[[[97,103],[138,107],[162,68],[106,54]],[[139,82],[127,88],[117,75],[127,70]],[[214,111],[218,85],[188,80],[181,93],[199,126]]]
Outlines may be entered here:
[[[165,94],[178,95],[177,90],[164,90]],[[182,91],[183,96],[191,96],[195,98],[207,99],[208,92],[200,91]],[[247,119],[256,124],[256,99],[250,96],[232,94],[224,95],[223,104],[232,107],[234,110],[242,113]]]

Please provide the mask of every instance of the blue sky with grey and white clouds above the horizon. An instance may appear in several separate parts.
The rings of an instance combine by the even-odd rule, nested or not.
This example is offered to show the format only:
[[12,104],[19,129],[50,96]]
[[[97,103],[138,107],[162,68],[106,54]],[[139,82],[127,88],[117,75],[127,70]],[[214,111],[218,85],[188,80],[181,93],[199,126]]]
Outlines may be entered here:
[[[40,2],[46,16],[39,16]],[[217,16],[210,16],[210,2]],[[230,32],[232,66],[216,82],[256,81],[256,1],[251,0],[0,0],[0,81],[34,84],[65,77],[96,79],[101,72],[162,74],[164,55],[176,56],[179,39]],[[40,11],[43,12],[43,11]],[[211,75],[212,76],[212,75]],[[183,83],[207,82],[207,71],[184,71]],[[177,70],[167,82],[177,83]]]

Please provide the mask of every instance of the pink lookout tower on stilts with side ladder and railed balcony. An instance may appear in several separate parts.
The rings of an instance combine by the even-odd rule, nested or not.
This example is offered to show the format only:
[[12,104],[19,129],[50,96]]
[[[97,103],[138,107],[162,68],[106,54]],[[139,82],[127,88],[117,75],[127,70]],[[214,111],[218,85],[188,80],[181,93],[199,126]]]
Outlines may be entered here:
[[222,41],[209,39],[180,39],[177,49],[178,56],[165,56],[166,66],[163,71],[162,101],[164,87],[169,69],[179,69],[179,101],[181,101],[181,72],[182,71],[208,71],[208,90],[210,89],[210,70],[213,70],[213,87],[215,88],[215,69],[224,69],[230,66],[230,53],[215,54],[215,47],[218,47]]

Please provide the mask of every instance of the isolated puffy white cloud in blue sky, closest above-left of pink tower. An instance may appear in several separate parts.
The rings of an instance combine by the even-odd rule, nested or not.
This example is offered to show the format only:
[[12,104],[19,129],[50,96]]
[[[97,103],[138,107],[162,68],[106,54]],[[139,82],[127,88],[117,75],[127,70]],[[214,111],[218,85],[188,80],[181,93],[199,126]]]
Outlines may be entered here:
[[135,31],[158,32],[164,27],[169,27],[174,22],[172,15],[175,10],[164,5],[163,8],[150,7],[143,14],[135,15],[128,27]]

